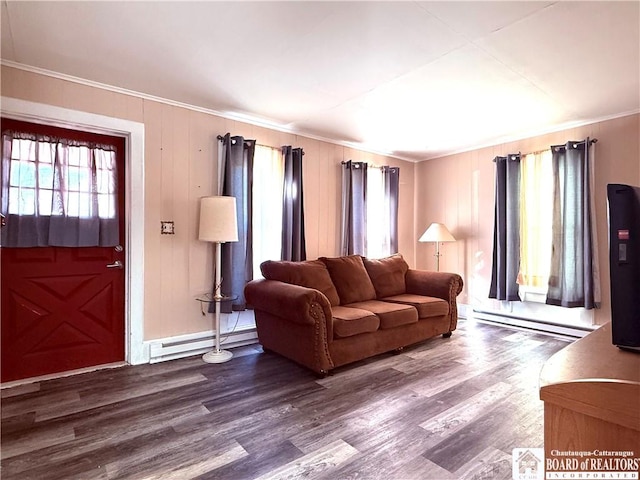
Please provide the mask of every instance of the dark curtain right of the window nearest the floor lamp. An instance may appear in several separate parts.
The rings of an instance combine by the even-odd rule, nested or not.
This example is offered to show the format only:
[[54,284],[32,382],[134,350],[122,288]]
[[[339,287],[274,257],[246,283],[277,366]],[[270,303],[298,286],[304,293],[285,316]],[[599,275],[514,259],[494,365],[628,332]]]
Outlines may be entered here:
[[284,192],[282,205],[282,260],[307,259],[304,237],[304,197],[302,191],[302,148],[282,147]]

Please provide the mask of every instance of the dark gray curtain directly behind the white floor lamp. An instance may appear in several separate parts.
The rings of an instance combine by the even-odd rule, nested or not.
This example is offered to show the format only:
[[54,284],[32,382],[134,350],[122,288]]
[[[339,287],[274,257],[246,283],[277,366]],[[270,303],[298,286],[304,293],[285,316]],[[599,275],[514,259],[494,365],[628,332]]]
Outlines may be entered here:
[[222,182],[221,194],[236,198],[238,215],[238,241],[222,244],[222,294],[235,299],[223,302],[221,311],[230,313],[246,308],[244,287],[253,279],[251,191],[255,140],[232,137],[229,133],[218,139],[221,142],[218,176]]

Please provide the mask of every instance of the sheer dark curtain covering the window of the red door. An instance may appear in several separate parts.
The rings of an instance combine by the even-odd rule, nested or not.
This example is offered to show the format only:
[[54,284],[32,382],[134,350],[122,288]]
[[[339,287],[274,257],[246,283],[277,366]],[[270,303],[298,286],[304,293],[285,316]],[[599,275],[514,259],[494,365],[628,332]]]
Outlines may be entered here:
[[3,247],[120,243],[116,147],[49,135],[2,135]]

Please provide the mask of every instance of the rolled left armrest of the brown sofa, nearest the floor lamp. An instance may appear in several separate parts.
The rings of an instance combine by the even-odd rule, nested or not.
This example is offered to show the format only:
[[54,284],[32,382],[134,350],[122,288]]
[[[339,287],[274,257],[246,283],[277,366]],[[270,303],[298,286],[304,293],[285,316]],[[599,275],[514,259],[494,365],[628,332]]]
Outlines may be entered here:
[[300,325],[322,321],[326,325],[327,338],[333,338],[331,304],[318,290],[261,279],[249,282],[244,294],[249,306],[283,320]]

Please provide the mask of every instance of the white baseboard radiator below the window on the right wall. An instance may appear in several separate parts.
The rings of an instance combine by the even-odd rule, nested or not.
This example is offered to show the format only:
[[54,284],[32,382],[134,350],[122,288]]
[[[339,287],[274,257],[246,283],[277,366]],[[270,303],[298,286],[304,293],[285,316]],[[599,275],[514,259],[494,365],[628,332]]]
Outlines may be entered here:
[[462,309],[461,318],[467,320],[477,320],[492,325],[500,325],[521,330],[531,330],[538,333],[562,337],[569,340],[582,338],[593,329],[581,325],[568,326],[545,320],[535,320],[531,318],[518,317],[516,315],[508,315],[504,313],[490,312],[486,310],[477,310],[469,305],[465,305]]

